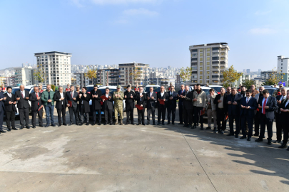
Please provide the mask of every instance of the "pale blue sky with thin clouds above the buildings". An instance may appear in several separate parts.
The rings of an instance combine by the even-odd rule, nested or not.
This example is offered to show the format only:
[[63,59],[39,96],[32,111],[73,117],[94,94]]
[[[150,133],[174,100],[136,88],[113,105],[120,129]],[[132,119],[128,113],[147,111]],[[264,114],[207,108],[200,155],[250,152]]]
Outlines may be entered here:
[[190,65],[189,46],[225,42],[228,66],[272,70],[289,57],[289,1],[0,0],[0,69],[34,53],[72,53],[72,65]]

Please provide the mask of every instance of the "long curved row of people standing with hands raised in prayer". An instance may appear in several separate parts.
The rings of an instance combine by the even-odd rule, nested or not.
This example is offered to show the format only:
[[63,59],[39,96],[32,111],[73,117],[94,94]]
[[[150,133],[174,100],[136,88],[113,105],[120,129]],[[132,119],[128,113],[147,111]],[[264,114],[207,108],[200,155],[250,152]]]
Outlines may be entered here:
[[[3,85],[2,85],[3,90]],[[239,137],[240,139],[251,140],[253,136],[258,137],[255,142],[263,142],[265,138],[265,129],[268,132],[268,144],[272,144],[273,138],[273,122],[276,123],[276,141],[280,143],[279,148],[287,147],[289,124],[289,90],[286,87],[280,87],[279,95],[271,96],[264,87],[255,90],[255,85],[251,85],[250,89],[241,86],[238,90],[236,87],[222,87],[220,93],[216,94],[213,88],[210,93],[201,89],[201,85],[193,86],[193,90],[187,85],[181,85],[181,90],[175,91],[175,87],[171,85],[168,91],[161,86],[159,92],[154,92],[150,87],[149,92],[143,92],[143,87],[131,90],[128,85],[125,92],[121,91],[121,86],[117,86],[116,92],[111,93],[106,87],[106,92],[102,94],[98,90],[98,86],[94,85],[91,92],[87,92],[86,87],[81,90],[74,86],[66,88],[59,87],[57,92],[51,89],[51,85],[46,85],[46,90],[42,90],[41,86],[35,86],[34,92],[29,94],[24,90],[24,85],[20,85],[20,90],[15,94],[11,93],[12,87],[5,87],[6,93],[0,92],[0,133],[3,130],[3,117],[6,113],[6,126],[8,131],[17,130],[15,127],[16,103],[19,111],[20,129],[26,127],[29,129],[29,112],[31,108],[32,128],[36,128],[36,116],[39,117],[39,127],[56,126],[54,123],[54,107],[58,114],[58,126],[66,124],[66,107],[69,108],[70,124],[89,125],[89,112],[93,112],[93,123],[96,124],[96,116],[98,115],[98,125],[101,125],[101,110],[104,112],[105,125],[113,124],[113,109],[115,114],[114,124],[123,124],[123,100],[126,107],[126,124],[134,124],[133,110],[136,108],[138,112],[139,124],[160,125],[175,124],[176,107],[179,110],[179,123],[183,127],[196,129],[200,125],[200,129],[213,129],[213,132],[224,134],[227,121],[229,121],[230,132],[228,136]],[[91,107],[90,107],[90,100]],[[31,107],[29,105],[31,102]],[[177,102],[178,101],[178,102]],[[56,103],[55,103],[56,102]],[[114,102],[114,107],[113,107]],[[55,105],[55,106],[54,106]],[[156,122],[156,108],[158,111],[158,119]],[[44,109],[46,112],[46,125],[42,121]],[[147,119],[145,123],[145,110],[147,111]],[[203,127],[203,116],[208,116],[208,127]],[[166,115],[167,114],[167,115]],[[213,128],[211,127],[213,119]],[[25,120],[25,122],[24,122]],[[119,122],[118,122],[119,120]],[[235,129],[234,129],[235,124]],[[253,125],[254,131],[253,134]],[[259,128],[260,127],[260,128]],[[283,142],[282,140],[283,134]],[[289,151],[289,147],[287,149]]]

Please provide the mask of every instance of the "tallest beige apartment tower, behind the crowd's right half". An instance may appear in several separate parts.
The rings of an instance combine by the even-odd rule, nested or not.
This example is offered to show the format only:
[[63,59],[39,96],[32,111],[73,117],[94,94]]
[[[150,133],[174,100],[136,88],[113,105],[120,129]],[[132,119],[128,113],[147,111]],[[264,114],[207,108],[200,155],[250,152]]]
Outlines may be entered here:
[[228,68],[228,43],[210,43],[190,46],[191,82],[221,85],[223,72]]

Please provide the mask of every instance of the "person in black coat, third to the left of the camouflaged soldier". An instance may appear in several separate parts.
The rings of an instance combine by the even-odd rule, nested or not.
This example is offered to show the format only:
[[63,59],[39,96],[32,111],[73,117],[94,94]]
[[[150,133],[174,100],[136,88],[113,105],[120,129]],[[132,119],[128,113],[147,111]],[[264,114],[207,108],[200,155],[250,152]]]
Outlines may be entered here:
[[81,125],[83,125],[84,122],[84,114],[86,114],[86,125],[89,125],[89,112],[90,106],[89,101],[91,100],[91,96],[88,92],[86,92],[87,88],[82,87],[82,92],[79,92],[77,100],[78,102],[78,109],[79,112],[81,112]]

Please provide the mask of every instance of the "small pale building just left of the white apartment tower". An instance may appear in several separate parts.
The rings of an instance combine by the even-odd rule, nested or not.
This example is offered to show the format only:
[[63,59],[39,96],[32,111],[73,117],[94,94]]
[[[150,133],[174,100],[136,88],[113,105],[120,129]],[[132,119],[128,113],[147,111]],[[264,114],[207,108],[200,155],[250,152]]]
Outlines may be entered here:
[[15,71],[15,85],[32,85],[32,67],[14,68]]

